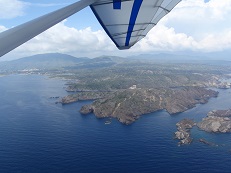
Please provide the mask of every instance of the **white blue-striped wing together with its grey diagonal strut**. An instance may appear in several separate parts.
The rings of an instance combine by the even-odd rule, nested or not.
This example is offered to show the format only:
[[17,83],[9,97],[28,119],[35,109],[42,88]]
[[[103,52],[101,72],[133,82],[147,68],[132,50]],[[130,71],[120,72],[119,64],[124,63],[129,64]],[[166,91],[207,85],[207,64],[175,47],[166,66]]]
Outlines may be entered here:
[[80,0],[0,33],[0,57],[90,5],[119,49],[128,49],[181,0]]

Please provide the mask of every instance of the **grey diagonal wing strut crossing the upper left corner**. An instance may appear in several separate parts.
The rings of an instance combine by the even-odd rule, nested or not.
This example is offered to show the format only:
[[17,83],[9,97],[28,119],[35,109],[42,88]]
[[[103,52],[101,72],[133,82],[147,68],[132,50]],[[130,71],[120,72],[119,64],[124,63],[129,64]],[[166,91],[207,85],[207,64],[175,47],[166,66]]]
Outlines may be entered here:
[[0,33],[0,57],[96,1],[80,0]]

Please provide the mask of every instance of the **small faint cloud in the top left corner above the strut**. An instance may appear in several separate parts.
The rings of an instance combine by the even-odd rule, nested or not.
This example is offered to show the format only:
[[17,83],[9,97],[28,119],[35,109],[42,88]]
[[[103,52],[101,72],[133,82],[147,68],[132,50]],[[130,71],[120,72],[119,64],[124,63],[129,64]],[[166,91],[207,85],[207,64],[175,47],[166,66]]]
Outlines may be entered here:
[[19,0],[0,0],[0,19],[22,16],[27,3]]

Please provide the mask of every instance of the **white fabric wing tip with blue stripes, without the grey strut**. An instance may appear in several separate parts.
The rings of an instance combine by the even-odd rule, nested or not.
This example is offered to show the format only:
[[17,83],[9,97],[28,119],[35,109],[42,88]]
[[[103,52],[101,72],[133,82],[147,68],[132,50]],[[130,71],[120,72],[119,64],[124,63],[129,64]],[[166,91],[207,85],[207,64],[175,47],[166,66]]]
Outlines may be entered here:
[[99,0],[91,5],[119,49],[129,49],[181,0]]

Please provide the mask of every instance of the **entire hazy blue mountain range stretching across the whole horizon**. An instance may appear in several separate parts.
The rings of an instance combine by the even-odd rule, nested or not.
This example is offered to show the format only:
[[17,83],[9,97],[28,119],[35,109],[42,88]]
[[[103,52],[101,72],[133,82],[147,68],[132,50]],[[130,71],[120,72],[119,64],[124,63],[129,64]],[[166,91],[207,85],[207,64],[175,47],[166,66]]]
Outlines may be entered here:
[[74,57],[67,54],[48,53],[38,54],[34,56],[24,57],[12,61],[0,62],[0,71],[25,70],[25,69],[40,69],[52,70],[61,68],[102,68],[110,67],[112,65],[123,63],[127,61],[152,61],[156,63],[206,63],[231,65],[228,54],[225,53],[202,53],[202,54],[141,54],[136,56],[129,56],[127,58],[118,56],[100,56],[93,59],[87,57]]

